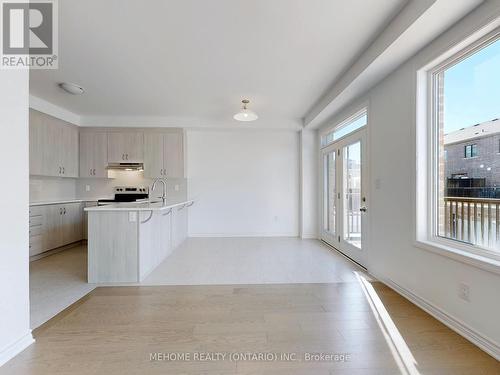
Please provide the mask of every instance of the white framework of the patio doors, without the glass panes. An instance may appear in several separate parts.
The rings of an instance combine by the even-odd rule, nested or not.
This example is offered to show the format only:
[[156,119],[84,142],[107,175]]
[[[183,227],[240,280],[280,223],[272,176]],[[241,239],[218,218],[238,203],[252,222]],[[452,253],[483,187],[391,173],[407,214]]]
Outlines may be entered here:
[[[368,244],[370,236],[370,189],[369,189],[369,176],[370,176],[370,158],[368,157],[368,139],[369,131],[368,124],[360,129],[347,134],[344,137],[330,143],[329,145],[320,148],[319,150],[319,179],[320,179],[320,239],[327,243],[329,246],[335,248],[337,251],[342,253],[344,256],[348,257],[350,260],[354,261],[363,268],[368,268]],[[345,199],[338,199],[338,188],[342,184],[343,186],[343,148],[349,144],[356,143],[357,140],[361,140],[361,160],[362,160],[362,170],[361,170],[361,195],[366,198],[365,206],[368,208],[361,216],[361,249],[356,246],[349,244],[343,239],[344,237],[344,202]],[[336,193],[337,193],[337,217],[336,217],[336,228],[335,237],[324,230],[324,218],[325,218],[325,174],[324,174],[324,156],[330,153],[332,150],[336,151],[335,163],[336,163]],[[340,151],[340,155],[339,155]],[[343,187],[342,187],[343,190]],[[341,197],[343,198],[343,196]],[[340,237],[340,241],[339,241]],[[360,252],[361,254],[358,254]],[[353,256],[354,255],[354,256]]]

